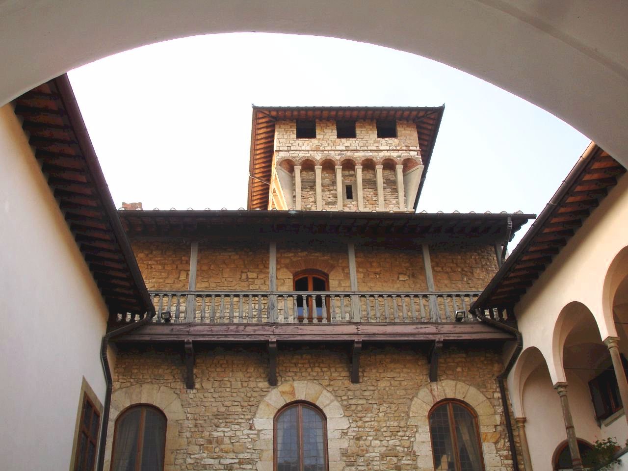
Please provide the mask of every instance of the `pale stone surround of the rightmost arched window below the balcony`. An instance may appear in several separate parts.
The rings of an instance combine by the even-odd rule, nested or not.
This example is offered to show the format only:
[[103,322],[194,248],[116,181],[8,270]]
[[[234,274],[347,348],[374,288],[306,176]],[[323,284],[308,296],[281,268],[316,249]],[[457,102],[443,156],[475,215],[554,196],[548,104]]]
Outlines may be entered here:
[[502,458],[495,447],[495,443],[503,438],[500,426],[501,416],[495,413],[489,399],[475,387],[460,381],[445,379],[421,387],[410,404],[408,423],[409,425],[416,425],[414,453],[417,457],[418,470],[433,471],[434,469],[428,416],[433,406],[443,399],[458,399],[458,401],[462,401],[474,409],[482,432],[480,441],[483,460],[487,465],[486,469],[506,467],[507,463],[502,463]]

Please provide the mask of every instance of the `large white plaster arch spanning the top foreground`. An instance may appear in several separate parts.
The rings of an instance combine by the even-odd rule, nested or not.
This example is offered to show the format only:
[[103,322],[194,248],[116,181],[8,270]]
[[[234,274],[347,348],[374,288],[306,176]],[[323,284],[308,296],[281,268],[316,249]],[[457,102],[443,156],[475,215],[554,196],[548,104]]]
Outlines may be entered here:
[[328,36],[408,51],[483,78],[564,119],[628,165],[625,2],[14,0],[2,8],[0,61],[11,67],[0,105],[74,67],[156,41],[236,31]]

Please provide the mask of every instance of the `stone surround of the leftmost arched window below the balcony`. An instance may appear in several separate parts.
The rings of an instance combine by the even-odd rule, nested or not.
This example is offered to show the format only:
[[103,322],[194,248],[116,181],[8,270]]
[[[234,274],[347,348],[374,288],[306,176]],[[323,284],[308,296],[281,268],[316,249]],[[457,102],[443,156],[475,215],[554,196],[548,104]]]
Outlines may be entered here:
[[134,404],[150,404],[163,412],[168,421],[164,469],[174,470],[175,450],[178,448],[180,421],[185,420],[185,411],[175,389],[160,384],[137,384],[117,389],[111,395],[109,425],[107,426],[107,445],[105,447],[104,469],[111,467],[111,451],[116,421],[122,413]]

